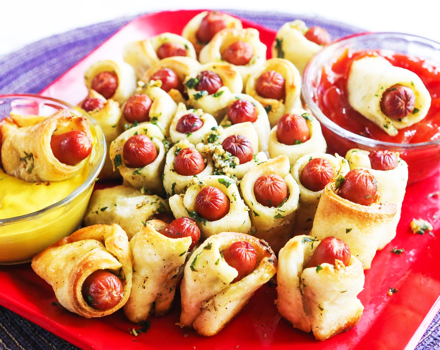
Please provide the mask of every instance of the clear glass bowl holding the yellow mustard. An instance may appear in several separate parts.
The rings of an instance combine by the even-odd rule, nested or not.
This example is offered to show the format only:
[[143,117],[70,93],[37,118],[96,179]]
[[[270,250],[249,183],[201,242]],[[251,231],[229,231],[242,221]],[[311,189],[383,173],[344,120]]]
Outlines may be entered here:
[[[49,116],[62,109],[73,114],[84,115],[84,112],[81,113],[69,103],[49,97],[27,94],[0,95],[0,120],[7,117],[10,112],[20,115]],[[93,141],[92,153],[89,162],[86,163],[88,171],[84,173],[84,182],[66,197],[55,199],[58,200],[56,203],[43,209],[26,215],[0,218],[0,264],[29,261],[35,254],[70,235],[81,225],[95,180],[106,155],[103,130],[94,119],[88,115],[86,117],[90,124]],[[41,186],[44,185],[44,183],[41,184]],[[16,191],[16,189],[11,188],[11,191]],[[1,201],[0,198],[0,206]]]

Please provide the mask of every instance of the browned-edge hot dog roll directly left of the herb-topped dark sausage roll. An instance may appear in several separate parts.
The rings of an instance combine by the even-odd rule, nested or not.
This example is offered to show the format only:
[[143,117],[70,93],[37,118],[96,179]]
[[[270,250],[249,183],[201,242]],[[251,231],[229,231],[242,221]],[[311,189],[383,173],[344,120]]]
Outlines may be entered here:
[[185,102],[183,97],[183,81],[192,72],[200,68],[200,63],[191,57],[167,57],[161,59],[141,77],[142,81],[160,80],[161,89],[171,96],[176,103]]

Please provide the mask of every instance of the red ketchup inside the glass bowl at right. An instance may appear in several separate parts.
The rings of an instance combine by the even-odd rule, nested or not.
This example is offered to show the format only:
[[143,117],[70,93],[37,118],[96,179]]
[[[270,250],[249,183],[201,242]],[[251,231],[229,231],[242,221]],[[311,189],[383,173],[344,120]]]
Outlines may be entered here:
[[[440,139],[440,64],[436,66],[432,62],[398,53],[383,56],[393,66],[402,67],[417,74],[422,79],[432,99],[426,117],[418,123],[400,129],[396,136],[388,135],[350,106],[348,103],[347,79],[352,62],[366,56],[376,55],[379,55],[379,53],[375,51],[352,52],[347,49],[331,66],[323,68],[321,81],[316,88],[314,97],[323,114],[342,128],[374,140],[414,144]],[[323,127],[323,134],[327,140],[327,152],[329,153],[345,154],[348,149],[359,147],[359,145],[349,140],[334,135],[325,127]],[[438,153],[438,149],[410,149],[400,153],[400,156],[409,165],[410,183],[421,180],[435,171],[437,166],[434,163],[440,163]]]

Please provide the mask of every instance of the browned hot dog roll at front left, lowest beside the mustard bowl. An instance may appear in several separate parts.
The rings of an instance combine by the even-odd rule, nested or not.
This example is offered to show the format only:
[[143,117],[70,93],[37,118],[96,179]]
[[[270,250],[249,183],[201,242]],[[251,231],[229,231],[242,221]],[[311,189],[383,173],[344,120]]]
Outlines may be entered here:
[[132,287],[132,253],[116,224],[73,232],[36,255],[32,268],[52,286],[62,306],[84,317],[114,313]]

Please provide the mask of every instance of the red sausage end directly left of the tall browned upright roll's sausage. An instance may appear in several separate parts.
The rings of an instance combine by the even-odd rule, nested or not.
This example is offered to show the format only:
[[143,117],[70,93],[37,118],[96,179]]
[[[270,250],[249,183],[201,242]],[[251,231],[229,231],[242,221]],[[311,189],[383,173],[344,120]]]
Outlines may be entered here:
[[313,158],[302,169],[301,184],[310,191],[322,191],[334,177],[333,166],[323,158]]

